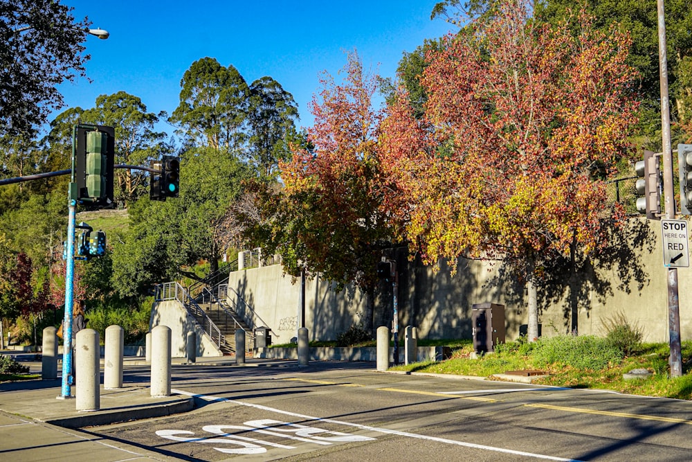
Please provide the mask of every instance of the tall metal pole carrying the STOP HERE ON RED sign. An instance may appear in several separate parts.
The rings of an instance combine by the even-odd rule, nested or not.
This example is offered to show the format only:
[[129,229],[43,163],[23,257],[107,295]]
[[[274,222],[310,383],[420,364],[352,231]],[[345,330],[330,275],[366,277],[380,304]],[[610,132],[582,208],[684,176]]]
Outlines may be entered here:
[[[658,55],[661,76],[661,125],[663,138],[663,189],[666,218],[675,218],[675,191],[673,190],[673,150],[671,149],[671,114],[668,99],[668,57],[666,51],[666,12],[664,0],[657,0]],[[682,375],[682,348],[680,346],[680,298],[677,292],[677,268],[668,268],[668,331],[671,355],[671,377]]]

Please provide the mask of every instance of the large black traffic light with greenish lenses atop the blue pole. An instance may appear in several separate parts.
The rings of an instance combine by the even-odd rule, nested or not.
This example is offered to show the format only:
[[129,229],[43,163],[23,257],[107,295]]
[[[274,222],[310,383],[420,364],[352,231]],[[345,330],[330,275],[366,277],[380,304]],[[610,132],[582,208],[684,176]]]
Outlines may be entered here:
[[115,130],[104,125],[75,125],[73,132],[76,199],[82,204],[113,203]]

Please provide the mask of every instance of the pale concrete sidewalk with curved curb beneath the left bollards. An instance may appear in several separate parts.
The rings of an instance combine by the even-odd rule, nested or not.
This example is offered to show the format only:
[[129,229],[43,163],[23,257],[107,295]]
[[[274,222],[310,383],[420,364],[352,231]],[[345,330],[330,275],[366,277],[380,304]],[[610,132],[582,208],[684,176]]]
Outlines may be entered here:
[[[41,373],[42,365],[36,355],[2,352],[8,353],[28,365],[31,373]],[[126,374],[128,368],[149,365],[143,357],[125,357],[123,363]],[[295,364],[293,361],[248,359],[246,364],[235,366],[234,357],[199,357],[195,363],[187,363],[184,358],[172,359],[173,366],[259,367],[289,363]],[[59,373],[60,370],[58,368]],[[101,385],[98,411],[77,411],[75,399],[59,398],[61,392],[60,378],[0,384],[0,459],[15,462],[176,460],[143,447],[104,440],[75,429],[188,412],[194,405],[189,396],[152,398],[148,384],[125,383],[122,389],[116,390],[106,390]],[[76,387],[72,387],[73,396],[77,393]]]

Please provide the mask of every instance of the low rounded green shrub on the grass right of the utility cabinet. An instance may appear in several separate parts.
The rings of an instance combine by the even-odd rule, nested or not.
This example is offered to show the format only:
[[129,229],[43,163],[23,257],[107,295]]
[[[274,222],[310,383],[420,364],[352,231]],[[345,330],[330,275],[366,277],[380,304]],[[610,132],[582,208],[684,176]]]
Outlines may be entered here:
[[600,371],[619,364],[624,356],[608,339],[594,335],[542,337],[535,343],[531,358],[538,367],[561,364]]

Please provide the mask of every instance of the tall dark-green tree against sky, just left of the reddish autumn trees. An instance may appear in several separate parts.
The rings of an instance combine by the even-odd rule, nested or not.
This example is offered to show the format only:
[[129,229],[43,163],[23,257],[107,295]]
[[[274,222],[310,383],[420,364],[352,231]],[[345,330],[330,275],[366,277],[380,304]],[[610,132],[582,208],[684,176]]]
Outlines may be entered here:
[[297,120],[298,105],[279,82],[265,76],[250,85],[248,160],[260,176],[272,177],[278,162],[290,159]]

